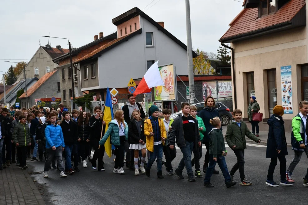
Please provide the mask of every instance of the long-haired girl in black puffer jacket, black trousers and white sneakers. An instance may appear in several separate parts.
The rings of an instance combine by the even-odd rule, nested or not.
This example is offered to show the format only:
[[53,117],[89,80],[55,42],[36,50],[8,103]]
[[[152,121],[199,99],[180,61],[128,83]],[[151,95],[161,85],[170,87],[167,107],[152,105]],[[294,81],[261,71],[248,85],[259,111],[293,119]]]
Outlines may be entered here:
[[89,154],[89,142],[90,142],[90,126],[87,112],[82,111],[79,113],[78,124],[78,155],[81,156],[83,168],[87,167],[87,157]]

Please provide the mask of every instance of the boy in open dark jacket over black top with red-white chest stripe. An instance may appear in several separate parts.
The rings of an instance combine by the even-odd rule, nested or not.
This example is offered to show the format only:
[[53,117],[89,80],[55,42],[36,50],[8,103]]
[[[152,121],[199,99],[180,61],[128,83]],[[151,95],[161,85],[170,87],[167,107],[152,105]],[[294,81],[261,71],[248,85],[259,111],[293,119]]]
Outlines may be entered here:
[[[181,108],[182,115],[174,119],[169,136],[170,149],[175,149],[174,144],[176,141],[177,146],[181,148],[181,152],[183,153],[183,158],[174,171],[174,174],[178,178],[183,179],[182,171],[186,167],[188,180],[194,182],[196,178],[191,168],[191,152],[194,148],[198,149],[197,146],[201,146],[198,121],[189,115],[190,105],[188,103],[182,103]],[[199,155],[195,157],[199,159]]]

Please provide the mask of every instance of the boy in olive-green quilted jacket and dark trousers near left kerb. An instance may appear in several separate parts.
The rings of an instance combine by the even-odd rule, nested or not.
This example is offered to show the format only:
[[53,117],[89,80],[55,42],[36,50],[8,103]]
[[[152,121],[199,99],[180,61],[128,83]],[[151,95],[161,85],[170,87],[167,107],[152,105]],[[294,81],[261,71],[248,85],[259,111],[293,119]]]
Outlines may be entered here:
[[13,130],[13,143],[17,147],[17,156],[19,159],[19,168],[28,168],[27,162],[27,146],[31,146],[30,129],[27,124],[25,115],[19,116],[19,122]]

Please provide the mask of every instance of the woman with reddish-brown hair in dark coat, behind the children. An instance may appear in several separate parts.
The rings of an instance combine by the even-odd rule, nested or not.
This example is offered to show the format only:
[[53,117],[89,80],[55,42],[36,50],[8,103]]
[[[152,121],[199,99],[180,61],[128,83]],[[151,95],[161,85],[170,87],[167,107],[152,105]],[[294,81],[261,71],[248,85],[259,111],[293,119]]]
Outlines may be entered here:
[[[203,144],[206,146],[206,154],[204,158],[203,164],[203,172],[206,173],[209,161],[210,161],[210,154],[209,154],[209,145],[210,145],[210,132],[214,128],[213,125],[210,123],[210,120],[214,117],[219,117],[218,111],[214,110],[215,107],[215,100],[212,96],[207,96],[204,102],[204,108],[200,111],[199,117],[203,120],[203,123],[206,128],[206,132],[204,133],[203,137]],[[222,130],[222,128],[220,128]],[[214,169],[213,174],[218,174],[219,172]]]

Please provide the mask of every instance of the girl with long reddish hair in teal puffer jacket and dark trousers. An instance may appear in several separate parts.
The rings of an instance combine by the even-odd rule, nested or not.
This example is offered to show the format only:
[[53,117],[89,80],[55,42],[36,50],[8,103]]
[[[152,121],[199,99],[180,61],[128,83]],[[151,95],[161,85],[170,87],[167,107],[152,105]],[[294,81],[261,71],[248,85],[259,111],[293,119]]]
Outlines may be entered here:
[[111,144],[115,149],[116,160],[113,168],[113,173],[124,173],[124,141],[128,139],[128,126],[124,121],[123,110],[116,110],[114,114],[114,120],[111,120],[108,124],[108,129],[99,144],[103,146],[110,135]]

